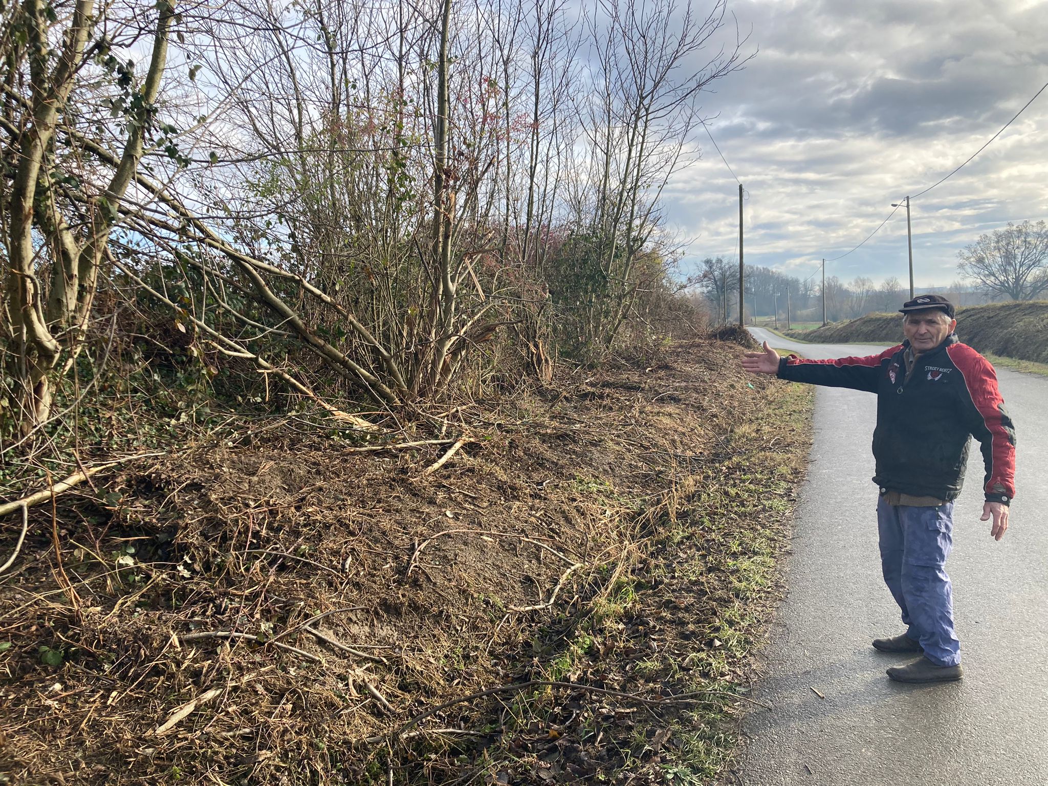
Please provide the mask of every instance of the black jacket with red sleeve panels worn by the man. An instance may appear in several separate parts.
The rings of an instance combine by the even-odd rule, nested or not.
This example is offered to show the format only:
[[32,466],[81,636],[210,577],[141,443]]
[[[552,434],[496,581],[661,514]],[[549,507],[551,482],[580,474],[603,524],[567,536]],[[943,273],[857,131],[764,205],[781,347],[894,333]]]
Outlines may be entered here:
[[1016,430],[997,388],[994,367],[951,334],[920,355],[907,375],[909,342],[869,357],[779,363],[779,376],[796,383],[877,394],[873,456],[881,488],[953,500],[961,492],[968,436],[982,443],[983,492],[1008,504],[1016,495]]

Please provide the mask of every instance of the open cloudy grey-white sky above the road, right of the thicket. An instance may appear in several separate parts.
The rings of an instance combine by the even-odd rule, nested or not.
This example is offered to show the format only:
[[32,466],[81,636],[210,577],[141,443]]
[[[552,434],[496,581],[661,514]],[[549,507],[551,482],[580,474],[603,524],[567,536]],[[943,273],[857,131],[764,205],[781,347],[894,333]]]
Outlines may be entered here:
[[[729,10],[759,51],[705,95],[704,115],[748,192],[746,262],[792,275],[858,244],[1048,82],[1048,2],[729,0]],[[674,179],[668,218],[693,261],[734,256],[738,183],[705,134],[697,140],[702,157]],[[957,252],[980,234],[1048,220],[1048,90],[912,211],[918,287],[957,279]],[[905,284],[905,210],[826,269]]]

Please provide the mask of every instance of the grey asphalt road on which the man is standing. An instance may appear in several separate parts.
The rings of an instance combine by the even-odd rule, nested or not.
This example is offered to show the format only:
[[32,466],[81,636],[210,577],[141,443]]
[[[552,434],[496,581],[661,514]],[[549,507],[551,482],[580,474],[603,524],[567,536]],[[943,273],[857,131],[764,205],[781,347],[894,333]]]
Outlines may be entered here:
[[[751,331],[812,358],[883,349]],[[946,564],[965,676],[935,685],[892,682],[885,669],[912,656],[870,647],[902,631],[877,552],[875,398],[817,390],[788,591],[754,696],[772,708],[745,721],[741,783],[1048,784],[1048,378],[1004,369],[998,376],[1018,434],[1017,497],[1008,531],[995,542],[979,521],[982,454],[973,444]]]

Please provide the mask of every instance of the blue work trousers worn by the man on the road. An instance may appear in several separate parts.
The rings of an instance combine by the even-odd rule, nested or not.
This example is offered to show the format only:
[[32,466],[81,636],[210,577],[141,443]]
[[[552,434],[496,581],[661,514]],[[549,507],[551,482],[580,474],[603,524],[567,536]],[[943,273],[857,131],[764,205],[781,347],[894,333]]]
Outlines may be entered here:
[[954,547],[954,503],[935,507],[877,501],[880,567],[902,610],[907,635],[938,665],[961,662],[954,633],[954,591],[944,569]]

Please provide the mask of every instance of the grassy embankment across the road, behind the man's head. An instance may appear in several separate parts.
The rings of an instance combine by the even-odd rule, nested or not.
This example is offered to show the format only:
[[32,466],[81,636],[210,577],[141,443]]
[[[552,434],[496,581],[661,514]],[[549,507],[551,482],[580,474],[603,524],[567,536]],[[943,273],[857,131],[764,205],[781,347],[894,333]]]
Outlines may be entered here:
[[[830,344],[897,342],[902,339],[901,320],[897,313],[872,313],[814,330],[783,332],[799,341]],[[987,356],[1026,362],[1027,365],[1020,370],[1039,371],[1038,366],[1048,365],[1048,302],[992,303],[959,308],[957,335]],[[1041,373],[1044,371],[1040,369]]]

